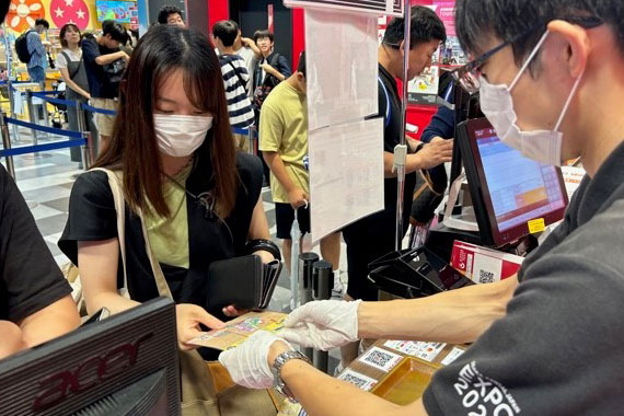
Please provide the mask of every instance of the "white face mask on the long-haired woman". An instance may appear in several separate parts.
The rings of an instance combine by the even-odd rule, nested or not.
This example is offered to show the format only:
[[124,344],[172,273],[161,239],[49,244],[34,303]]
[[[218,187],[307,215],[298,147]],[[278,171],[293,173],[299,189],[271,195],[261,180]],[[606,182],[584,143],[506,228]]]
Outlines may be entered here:
[[197,150],[212,127],[211,116],[154,114],[159,150],[172,157],[187,157]]

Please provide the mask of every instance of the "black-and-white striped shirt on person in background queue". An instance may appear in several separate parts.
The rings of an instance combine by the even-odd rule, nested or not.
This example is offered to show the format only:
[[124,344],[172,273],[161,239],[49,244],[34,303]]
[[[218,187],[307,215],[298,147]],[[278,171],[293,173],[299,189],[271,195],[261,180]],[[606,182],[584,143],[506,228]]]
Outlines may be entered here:
[[239,55],[221,55],[219,62],[226,83],[230,125],[241,128],[249,127],[254,124],[254,109],[245,90],[250,80],[245,60]]

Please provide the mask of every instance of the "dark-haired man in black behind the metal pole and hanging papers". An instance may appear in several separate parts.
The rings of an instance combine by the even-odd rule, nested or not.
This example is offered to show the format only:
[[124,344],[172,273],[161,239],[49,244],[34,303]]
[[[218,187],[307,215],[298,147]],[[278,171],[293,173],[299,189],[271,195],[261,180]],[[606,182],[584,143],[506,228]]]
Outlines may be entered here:
[[[351,299],[377,300],[378,291],[368,281],[368,264],[394,251],[396,241],[396,173],[392,172],[394,147],[401,142],[401,97],[395,79],[403,78],[404,20],[393,19],[379,47],[379,114],[384,119],[384,209],[344,229],[347,243],[349,284],[347,294]],[[440,42],[447,38],[440,19],[427,8],[412,10],[412,45],[409,47],[409,70],[413,79],[431,65],[431,55]],[[452,143],[437,142],[424,146],[418,152],[409,152],[405,165],[405,190],[403,224],[407,231],[412,195],[416,183],[415,172],[450,161]]]

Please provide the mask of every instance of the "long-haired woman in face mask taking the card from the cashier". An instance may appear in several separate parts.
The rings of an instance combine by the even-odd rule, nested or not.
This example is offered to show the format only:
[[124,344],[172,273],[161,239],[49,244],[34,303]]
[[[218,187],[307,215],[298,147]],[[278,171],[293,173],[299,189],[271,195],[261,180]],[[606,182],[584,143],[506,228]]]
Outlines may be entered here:
[[[204,35],[160,26],[139,42],[111,146],[95,166],[115,171],[123,184],[125,262],[107,175],[88,172],[73,186],[59,246],[80,267],[89,313],[120,312],[162,294],[146,254],[151,249],[177,303],[180,347],[193,348],[187,342],[199,324],[222,325],[203,308],[208,266],[243,255],[247,240],[269,238],[262,164],[234,150],[219,60]],[[124,263],[130,299],[118,294]]]

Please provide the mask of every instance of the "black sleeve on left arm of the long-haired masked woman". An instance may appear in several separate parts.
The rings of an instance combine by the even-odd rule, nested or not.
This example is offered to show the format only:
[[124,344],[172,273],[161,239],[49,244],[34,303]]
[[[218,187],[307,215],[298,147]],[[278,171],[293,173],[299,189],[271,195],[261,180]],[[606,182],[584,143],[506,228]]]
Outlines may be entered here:
[[117,212],[108,177],[104,172],[80,175],[71,189],[69,218],[58,246],[78,264],[78,242],[117,236]]

